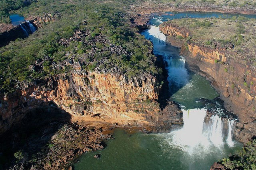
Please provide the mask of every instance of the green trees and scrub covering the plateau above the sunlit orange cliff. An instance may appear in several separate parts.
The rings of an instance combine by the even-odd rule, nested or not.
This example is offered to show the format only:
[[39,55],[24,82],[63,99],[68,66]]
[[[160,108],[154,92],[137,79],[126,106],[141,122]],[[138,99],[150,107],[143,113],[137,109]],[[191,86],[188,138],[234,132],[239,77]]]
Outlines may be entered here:
[[[12,92],[19,82],[70,72],[72,67],[68,65],[62,65],[62,69],[53,66],[70,59],[82,63],[84,71],[100,68],[128,77],[143,72],[157,74],[159,69],[154,65],[152,44],[137,34],[136,28],[130,27],[128,14],[113,6],[90,1],[70,4],[69,1],[45,0],[24,7],[20,10],[23,15],[28,11],[34,15],[48,11],[60,18],[45,24],[25,40],[18,39],[0,49],[0,88]],[[76,31],[82,32],[84,37],[75,40]],[[67,43],[60,43],[63,40]],[[44,61],[42,70],[29,69],[38,59]]]

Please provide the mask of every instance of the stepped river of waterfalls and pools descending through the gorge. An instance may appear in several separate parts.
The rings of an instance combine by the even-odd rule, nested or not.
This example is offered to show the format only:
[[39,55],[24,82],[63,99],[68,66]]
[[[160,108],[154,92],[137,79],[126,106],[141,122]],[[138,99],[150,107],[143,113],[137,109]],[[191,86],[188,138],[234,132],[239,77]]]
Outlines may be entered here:
[[[227,117],[228,113],[218,101],[218,93],[204,77],[189,73],[185,68],[186,59],[178,55],[178,49],[166,44],[166,37],[157,27],[162,20],[162,16],[153,18],[151,24],[154,25],[141,34],[154,44],[154,54],[164,59],[170,85],[166,93],[180,103],[184,126],[167,134],[117,128],[113,135],[116,139],[106,141],[104,150],[84,154],[74,164],[75,170],[207,170],[214,162],[242,147],[232,140],[236,121],[220,117]],[[208,122],[205,121],[207,110],[215,113]],[[95,154],[101,157],[95,159]]]

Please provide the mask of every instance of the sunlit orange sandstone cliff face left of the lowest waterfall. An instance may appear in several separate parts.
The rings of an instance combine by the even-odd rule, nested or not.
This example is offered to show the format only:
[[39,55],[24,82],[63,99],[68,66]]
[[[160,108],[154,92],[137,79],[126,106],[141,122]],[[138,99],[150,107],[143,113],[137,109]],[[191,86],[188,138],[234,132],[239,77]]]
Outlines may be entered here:
[[[173,103],[160,111],[156,77],[144,75],[128,80],[124,75],[74,72],[0,96],[0,134],[32,109],[58,107],[70,121],[92,125],[144,127],[148,131],[182,124],[182,112]],[[54,114],[54,113],[52,113]],[[167,119],[168,118],[168,119]],[[171,118],[171,119],[170,119]]]

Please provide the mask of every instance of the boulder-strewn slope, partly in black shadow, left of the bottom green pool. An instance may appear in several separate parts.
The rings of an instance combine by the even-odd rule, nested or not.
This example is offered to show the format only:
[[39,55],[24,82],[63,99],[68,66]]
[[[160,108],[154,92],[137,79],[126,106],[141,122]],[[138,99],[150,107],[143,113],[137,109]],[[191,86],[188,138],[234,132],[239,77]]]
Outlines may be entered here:
[[79,161],[78,156],[84,152],[103,149],[106,146],[103,140],[111,138],[102,128],[58,120],[41,127],[29,126],[36,130],[28,132],[24,129],[28,125],[23,125],[18,132],[11,129],[11,135],[5,134],[4,141],[1,139],[0,156],[6,162],[0,164],[0,169],[66,169]]

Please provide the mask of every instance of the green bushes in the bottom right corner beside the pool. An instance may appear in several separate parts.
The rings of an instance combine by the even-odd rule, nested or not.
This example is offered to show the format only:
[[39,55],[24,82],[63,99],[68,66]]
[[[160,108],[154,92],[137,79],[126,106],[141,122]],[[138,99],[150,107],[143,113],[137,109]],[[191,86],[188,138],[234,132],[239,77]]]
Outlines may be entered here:
[[249,141],[236,155],[220,162],[231,170],[256,170],[256,139]]

